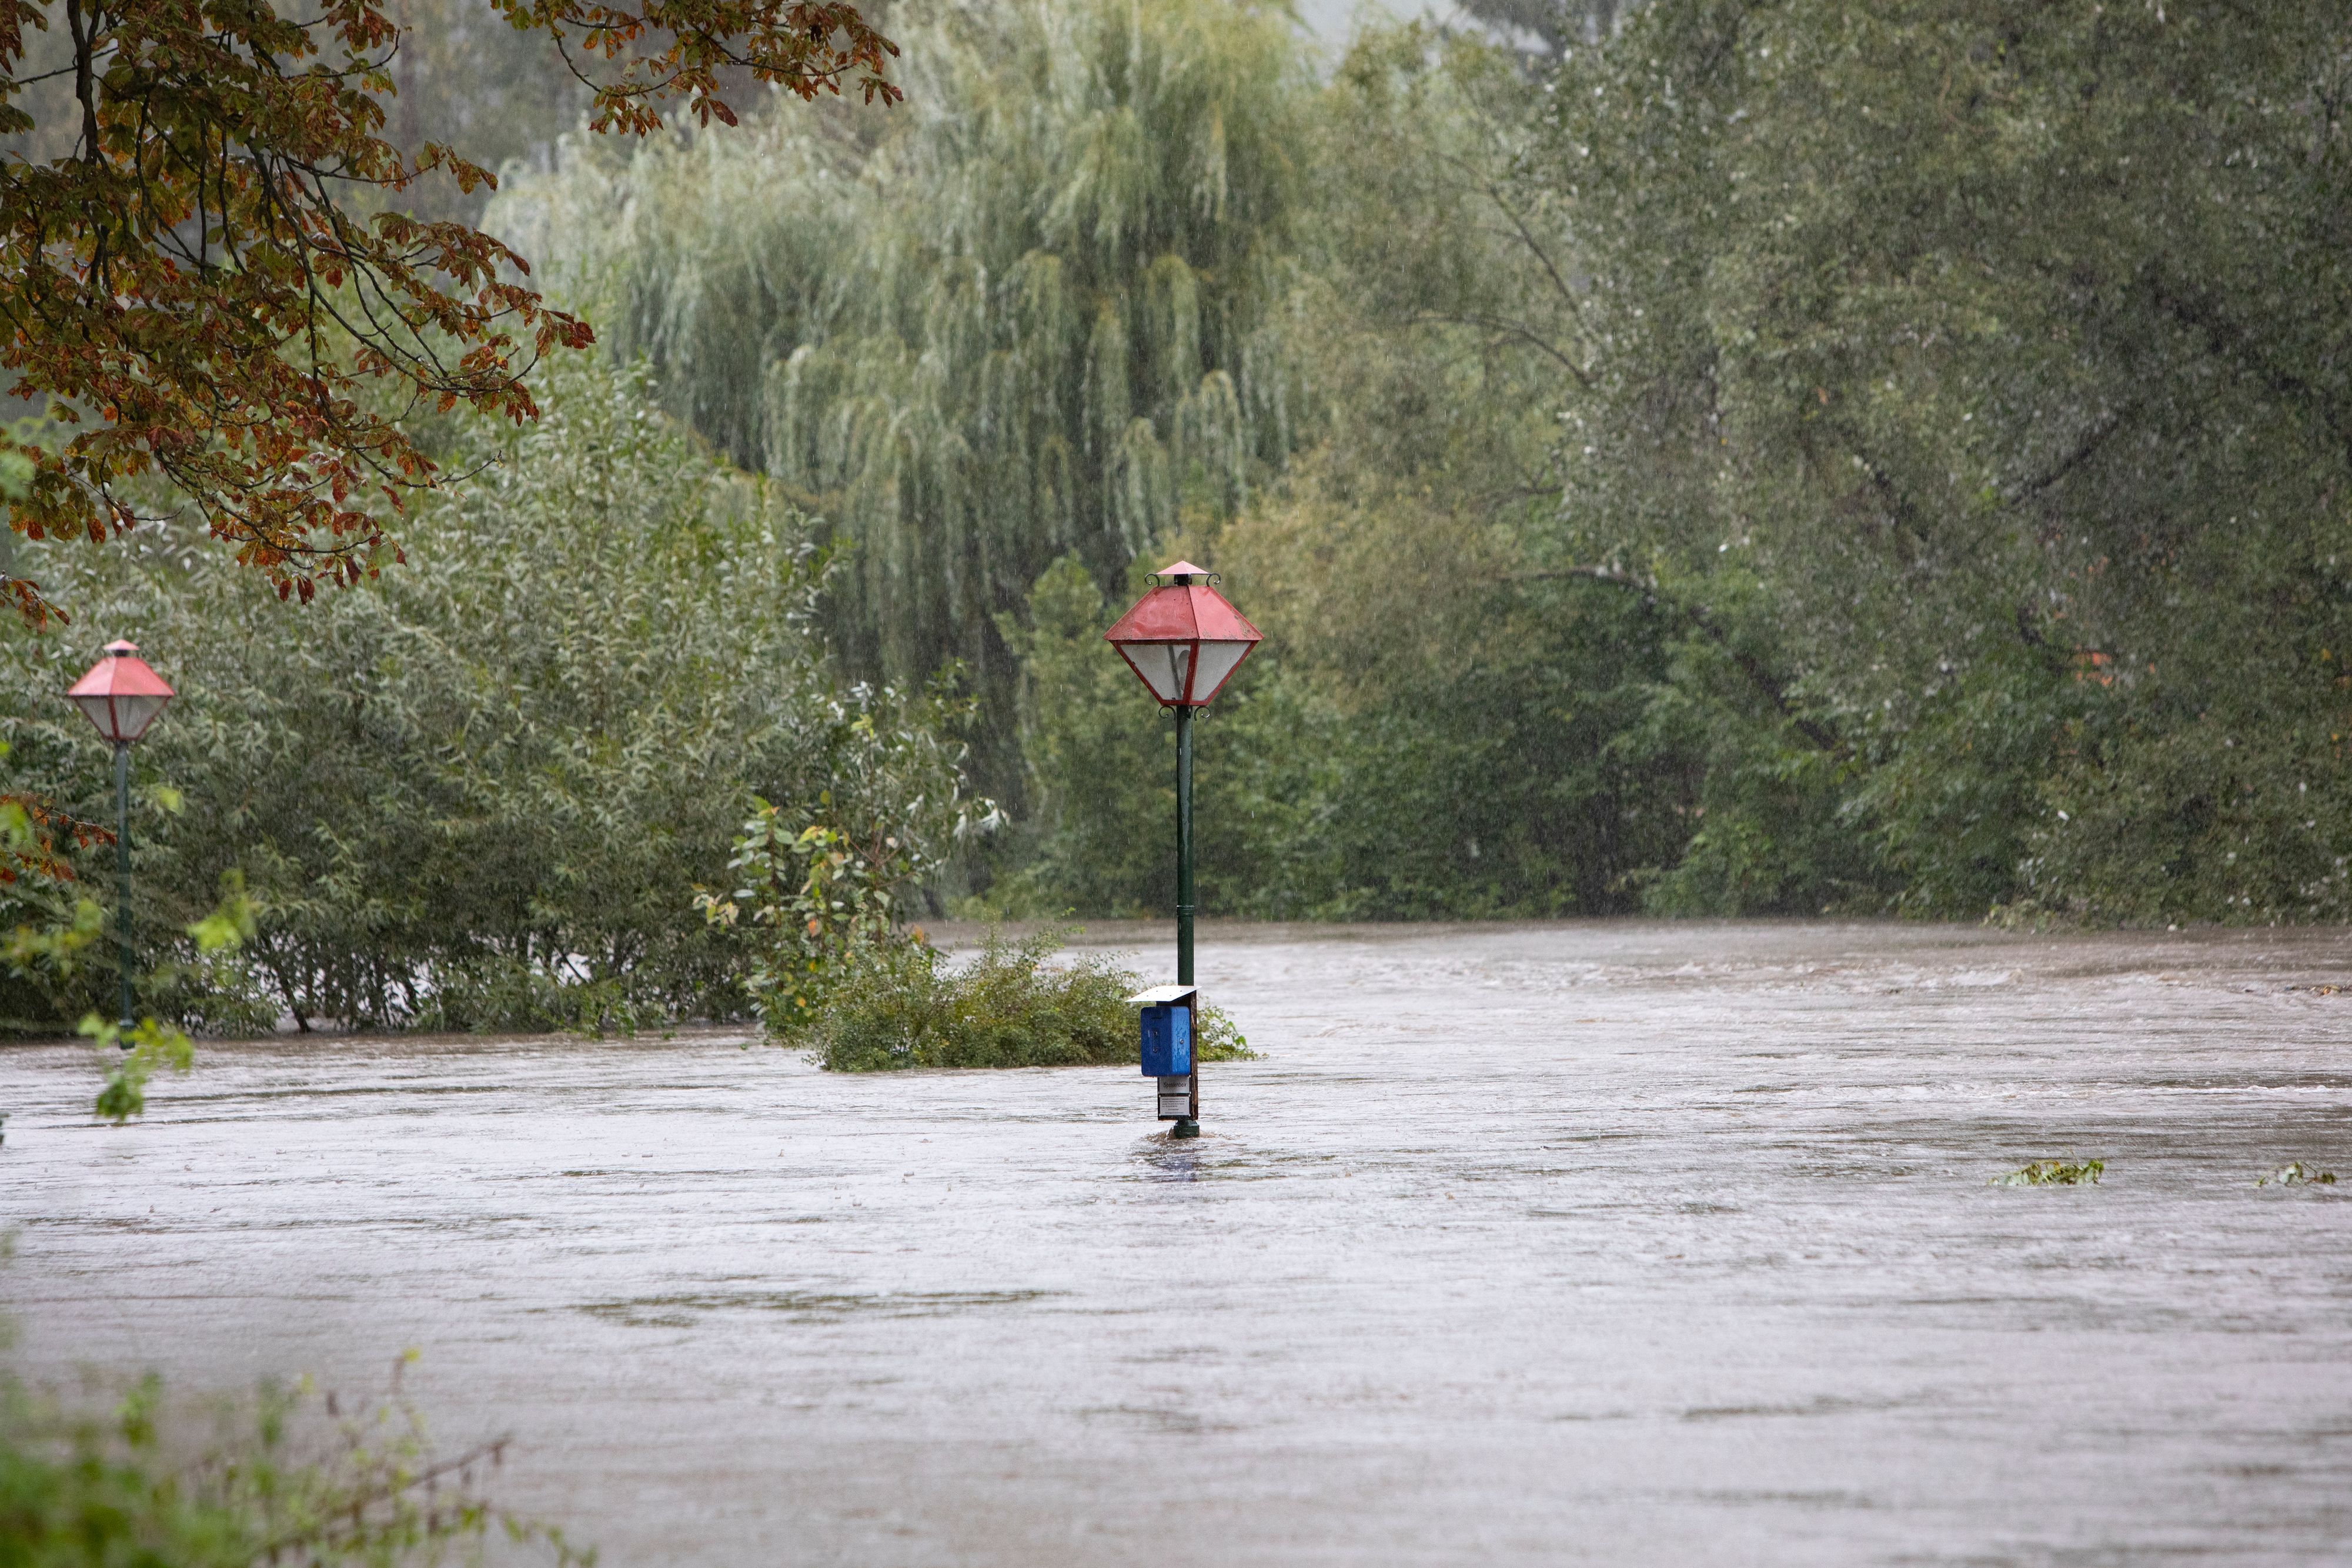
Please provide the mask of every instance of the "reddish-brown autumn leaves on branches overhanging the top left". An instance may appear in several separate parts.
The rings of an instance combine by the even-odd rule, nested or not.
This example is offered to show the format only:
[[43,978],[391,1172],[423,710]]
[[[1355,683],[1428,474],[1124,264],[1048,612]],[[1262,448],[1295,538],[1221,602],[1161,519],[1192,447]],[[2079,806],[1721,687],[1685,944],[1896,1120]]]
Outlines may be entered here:
[[[590,82],[600,132],[652,132],[680,99],[731,125],[720,73],[802,99],[898,99],[896,45],[851,5],[494,5]],[[536,418],[532,364],[593,331],[520,282],[529,266],[499,240],[393,209],[428,174],[496,183],[447,146],[405,155],[383,139],[397,47],[374,0],[310,19],[230,0],[0,0],[0,136],[71,134],[47,162],[0,153],[0,369],[71,428],[0,437],[0,456],[33,465],[14,531],[103,541],[139,522],[160,477],[240,562],[308,599],[397,557],[383,503],[435,482],[405,416]],[[42,125],[40,106],[71,127]],[[28,578],[5,574],[0,592],[35,628],[56,618]]]

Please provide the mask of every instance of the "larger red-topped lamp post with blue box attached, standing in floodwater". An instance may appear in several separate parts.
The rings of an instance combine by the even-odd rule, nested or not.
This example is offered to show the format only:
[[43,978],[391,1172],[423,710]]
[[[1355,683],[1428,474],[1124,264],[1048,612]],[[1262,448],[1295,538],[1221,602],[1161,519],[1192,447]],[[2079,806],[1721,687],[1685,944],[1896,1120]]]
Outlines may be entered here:
[[[1176,987],[1171,987],[1171,999],[1183,997],[1190,1084],[1185,1086],[1185,1114],[1174,1117],[1171,1133],[1195,1138],[1200,1133],[1200,1072],[1190,1065],[1190,1023],[1200,999],[1190,992],[1192,715],[1216,698],[1263,639],[1258,628],[1211,588],[1216,578],[1192,562],[1162,567],[1152,576],[1160,578],[1160,585],[1136,599],[1134,609],[1103,632],[1103,642],[1120,651],[1120,658],[1160,698],[1162,708],[1176,710]],[[1167,1103],[1169,1084],[1162,1081],[1160,1091],[1162,1103]]]

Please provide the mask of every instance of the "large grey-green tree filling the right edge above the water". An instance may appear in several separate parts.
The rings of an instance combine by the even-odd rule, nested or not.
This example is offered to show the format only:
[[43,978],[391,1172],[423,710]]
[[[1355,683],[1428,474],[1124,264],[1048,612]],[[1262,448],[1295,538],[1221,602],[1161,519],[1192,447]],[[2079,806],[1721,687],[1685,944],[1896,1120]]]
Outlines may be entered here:
[[1813,867],[1755,903],[2352,912],[2343,9],[1656,5],[1550,101],[1566,515],[1738,628],[1820,802],[1710,769]]

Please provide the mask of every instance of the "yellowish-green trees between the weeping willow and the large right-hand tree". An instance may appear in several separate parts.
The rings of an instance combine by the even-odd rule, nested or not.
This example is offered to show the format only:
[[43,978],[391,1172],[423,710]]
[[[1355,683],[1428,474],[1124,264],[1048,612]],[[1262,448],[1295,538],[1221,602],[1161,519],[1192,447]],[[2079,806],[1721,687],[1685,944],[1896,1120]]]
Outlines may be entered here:
[[[1679,625],[1557,541],[1578,346],[1557,216],[1508,179],[1536,129],[1519,63],[1376,33],[1310,125],[1329,179],[1301,219],[1291,336],[1315,442],[1145,562],[1211,559],[1268,632],[1197,729],[1202,898],[1345,919],[1632,907],[1689,837],[1677,743],[1632,736]],[[1068,562],[1009,632],[1033,851],[997,907],[1174,903],[1167,724],[1103,656],[1115,609]]]

